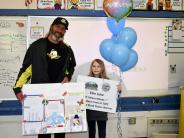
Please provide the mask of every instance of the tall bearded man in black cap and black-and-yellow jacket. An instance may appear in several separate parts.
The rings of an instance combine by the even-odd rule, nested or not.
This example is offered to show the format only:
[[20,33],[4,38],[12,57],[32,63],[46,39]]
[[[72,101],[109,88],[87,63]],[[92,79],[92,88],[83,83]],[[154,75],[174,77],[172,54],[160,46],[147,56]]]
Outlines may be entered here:
[[[20,101],[24,100],[21,88],[30,79],[32,84],[70,81],[76,62],[72,49],[63,42],[68,25],[65,18],[56,18],[47,37],[38,39],[28,48],[13,88]],[[54,137],[65,138],[65,134],[57,133]],[[51,135],[39,134],[38,138],[51,138]]]

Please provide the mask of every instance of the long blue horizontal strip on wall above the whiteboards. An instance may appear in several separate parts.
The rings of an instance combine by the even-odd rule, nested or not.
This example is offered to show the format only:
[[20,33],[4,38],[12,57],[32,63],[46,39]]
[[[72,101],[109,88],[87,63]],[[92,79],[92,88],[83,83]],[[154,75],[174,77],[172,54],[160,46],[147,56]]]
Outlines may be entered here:
[[[97,10],[37,10],[0,9],[0,16],[85,16],[106,17],[104,11]],[[132,11],[128,17],[141,18],[184,18],[184,11]]]

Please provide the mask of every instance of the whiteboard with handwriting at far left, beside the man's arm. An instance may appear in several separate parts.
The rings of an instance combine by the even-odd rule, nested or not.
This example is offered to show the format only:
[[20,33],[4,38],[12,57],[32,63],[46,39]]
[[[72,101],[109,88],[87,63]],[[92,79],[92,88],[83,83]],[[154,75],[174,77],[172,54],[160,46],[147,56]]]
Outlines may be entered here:
[[15,98],[12,87],[27,45],[27,18],[0,17],[0,99]]

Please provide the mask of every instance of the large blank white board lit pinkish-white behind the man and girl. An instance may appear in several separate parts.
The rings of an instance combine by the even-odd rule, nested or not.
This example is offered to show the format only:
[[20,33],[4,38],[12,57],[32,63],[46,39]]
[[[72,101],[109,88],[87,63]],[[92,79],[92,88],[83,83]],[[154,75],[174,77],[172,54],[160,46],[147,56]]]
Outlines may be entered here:
[[[30,16],[28,42],[32,43],[40,36],[45,36],[55,18]],[[69,29],[64,41],[71,45],[77,62],[74,77],[78,74],[87,75],[90,62],[94,58],[103,59],[99,45],[104,39],[111,38],[112,33],[107,28],[105,17],[65,18],[69,21]],[[121,76],[129,91],[168,89],[168,56],[165,56],[164,43],[166,26],[170,24],[169,19],[126,19],[125,26],[137,32],[138,40],[133,49],[138,53],[138,63],[120,75],[116,66],[103,59],[109,74]]]

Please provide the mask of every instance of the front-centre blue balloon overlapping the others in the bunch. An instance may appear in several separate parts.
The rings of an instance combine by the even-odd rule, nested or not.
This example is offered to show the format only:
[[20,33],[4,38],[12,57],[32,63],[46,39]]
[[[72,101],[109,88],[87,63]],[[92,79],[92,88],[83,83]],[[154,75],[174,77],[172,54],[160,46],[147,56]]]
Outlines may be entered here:
[[126,46],[116,44],[112,51],[111,63],[120,67],[128,61],[129,53],[130,50]]

